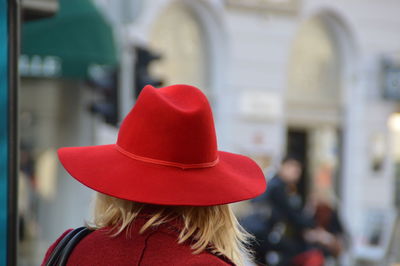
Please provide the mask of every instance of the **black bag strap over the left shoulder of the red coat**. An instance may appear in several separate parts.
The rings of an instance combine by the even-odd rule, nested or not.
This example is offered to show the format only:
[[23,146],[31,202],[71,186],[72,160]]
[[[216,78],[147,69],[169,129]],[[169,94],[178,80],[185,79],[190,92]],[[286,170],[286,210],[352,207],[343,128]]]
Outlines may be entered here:
[[[81,232],[85,232],[84,234],[80,234]],[[90,229],[82,226],[79,228],[76,228],[66,234],[63,239],[58,242],[57,246],[53,249],[51,252],[51,255],[49,259],[47,260],[46,266],[56,266],[56,265],[61,265],[61,258],[64,259],[64,262],[66,264],[66,260],[68,259],[68,255],[72,252],[72,249],[78,244],[79,240],[81,240],[84,236],[92,232]],[[75,238],[78,234],[80,236],[78,238]],[[72,244],[70,244],[72,242]],[[68,254],[64,255],[68,247]],[[65,265],[64,264],[64,265]]]

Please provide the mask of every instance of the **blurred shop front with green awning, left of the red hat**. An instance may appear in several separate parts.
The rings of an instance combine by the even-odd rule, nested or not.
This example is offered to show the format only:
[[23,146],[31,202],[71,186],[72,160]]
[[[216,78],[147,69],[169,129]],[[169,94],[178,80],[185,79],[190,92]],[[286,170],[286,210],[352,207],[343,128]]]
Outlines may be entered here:
[[39,265],[54,239],[90,218],[92,192],[63,170],[57,149],[96,143],[97,125],[112,116],[102,107],[104,91],[118,89],[117,52],[112,27],[89,0],[61,0],[53,17],[21,25],[21,265]]

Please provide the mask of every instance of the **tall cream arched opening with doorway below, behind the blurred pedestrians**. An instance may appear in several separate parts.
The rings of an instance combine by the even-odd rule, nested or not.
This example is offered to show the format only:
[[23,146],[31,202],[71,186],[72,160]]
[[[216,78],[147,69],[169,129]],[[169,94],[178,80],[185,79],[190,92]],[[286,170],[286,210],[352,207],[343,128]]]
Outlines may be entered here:
[[342,110],[342,52],[323,17],[312,17],[293,41],[286,91],[287,152],[304,167],[298,185],[305,200],[333,204],[339,183]]

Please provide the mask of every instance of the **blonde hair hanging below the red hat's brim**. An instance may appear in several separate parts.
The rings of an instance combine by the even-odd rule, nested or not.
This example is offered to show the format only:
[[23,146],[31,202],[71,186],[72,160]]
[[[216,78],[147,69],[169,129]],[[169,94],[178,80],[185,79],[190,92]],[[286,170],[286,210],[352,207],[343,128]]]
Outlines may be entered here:
[[111,227],[113,236],[125,229],[127,232],[138,214],[144,209],[152,210],[150,218],[142,226],[139,233],[148,228],[182,218],[183,228],[178,236],[178,243],[189,238],[193,254],[205,249],[229,258],[236,265],[244,265],[244,258],[250,259],[248,249],[252,235],[247,233],[237,221],[229,205],[217,206],[161,206],[137,203],[97,193],[94,216],[89,227],[100,229]]

